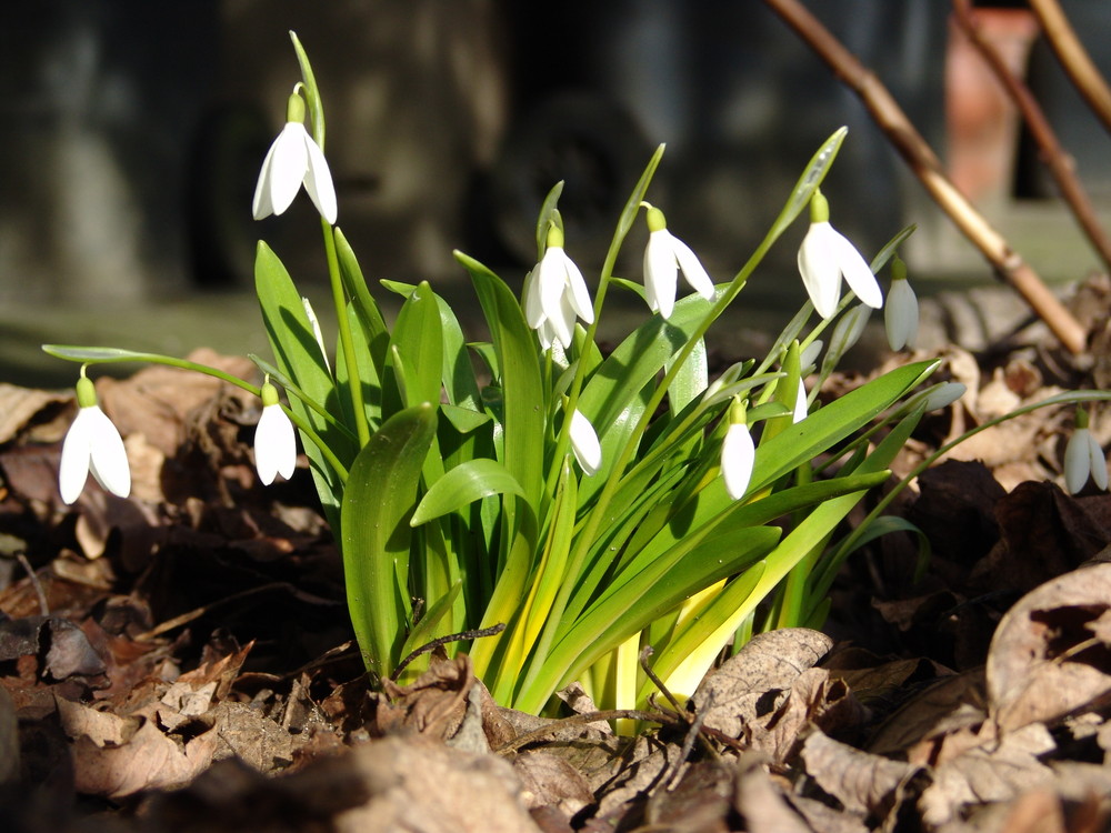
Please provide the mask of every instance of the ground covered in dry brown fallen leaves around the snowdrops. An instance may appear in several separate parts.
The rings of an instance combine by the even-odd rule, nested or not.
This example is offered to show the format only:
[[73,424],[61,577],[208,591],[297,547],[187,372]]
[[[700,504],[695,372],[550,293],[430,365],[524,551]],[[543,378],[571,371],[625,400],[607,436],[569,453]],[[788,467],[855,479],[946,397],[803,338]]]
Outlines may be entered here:
[[[1037,327],[940,351],[969,392],[895,474],[1023,403],[1108,387],[1107,297],[1081,290],[1084,357]],[[1071,409],[979,434],[900,495],[924,574],[914,539],[878,539],[823,632],[757,638],[625,737],[574,686],[559,719],[500,707],[466,656],[370,691],[303,460],[256,482],[258,402],[158,368],[98,390],[133,495],[66,508],[72,397],[0,387],[4,831],[1111,829],[1111,496],[1058,485]],[[1111,420],[1093,430],[1107,446]]]

